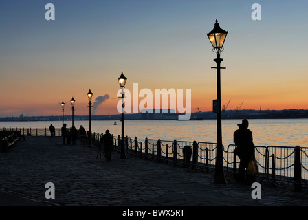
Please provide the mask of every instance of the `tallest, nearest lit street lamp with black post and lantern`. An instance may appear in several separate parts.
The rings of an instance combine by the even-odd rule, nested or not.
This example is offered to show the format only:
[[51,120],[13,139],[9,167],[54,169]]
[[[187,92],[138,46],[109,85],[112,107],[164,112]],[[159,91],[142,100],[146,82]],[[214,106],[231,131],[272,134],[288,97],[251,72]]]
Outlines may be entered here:
[[213,52],[216,52],[217,58],[214,61],[217,63],[217,67],[212,67],[212,69],[217,69],[217,149],[216,149],[216,162],[215,162],[215,184],[226,184],[225,175],[223,172],[223,143],[222,143],[222,131],[221,131],[221,77],[220,69],[225,69],[221,67],[220,63],[223,59],[220,58],[220,53],[223,51],[223,43],[225,43],[225,37],[228,32],[219,27],[219,23],[216,19],[214,29],[208,33],[208,39],[213,46]]

